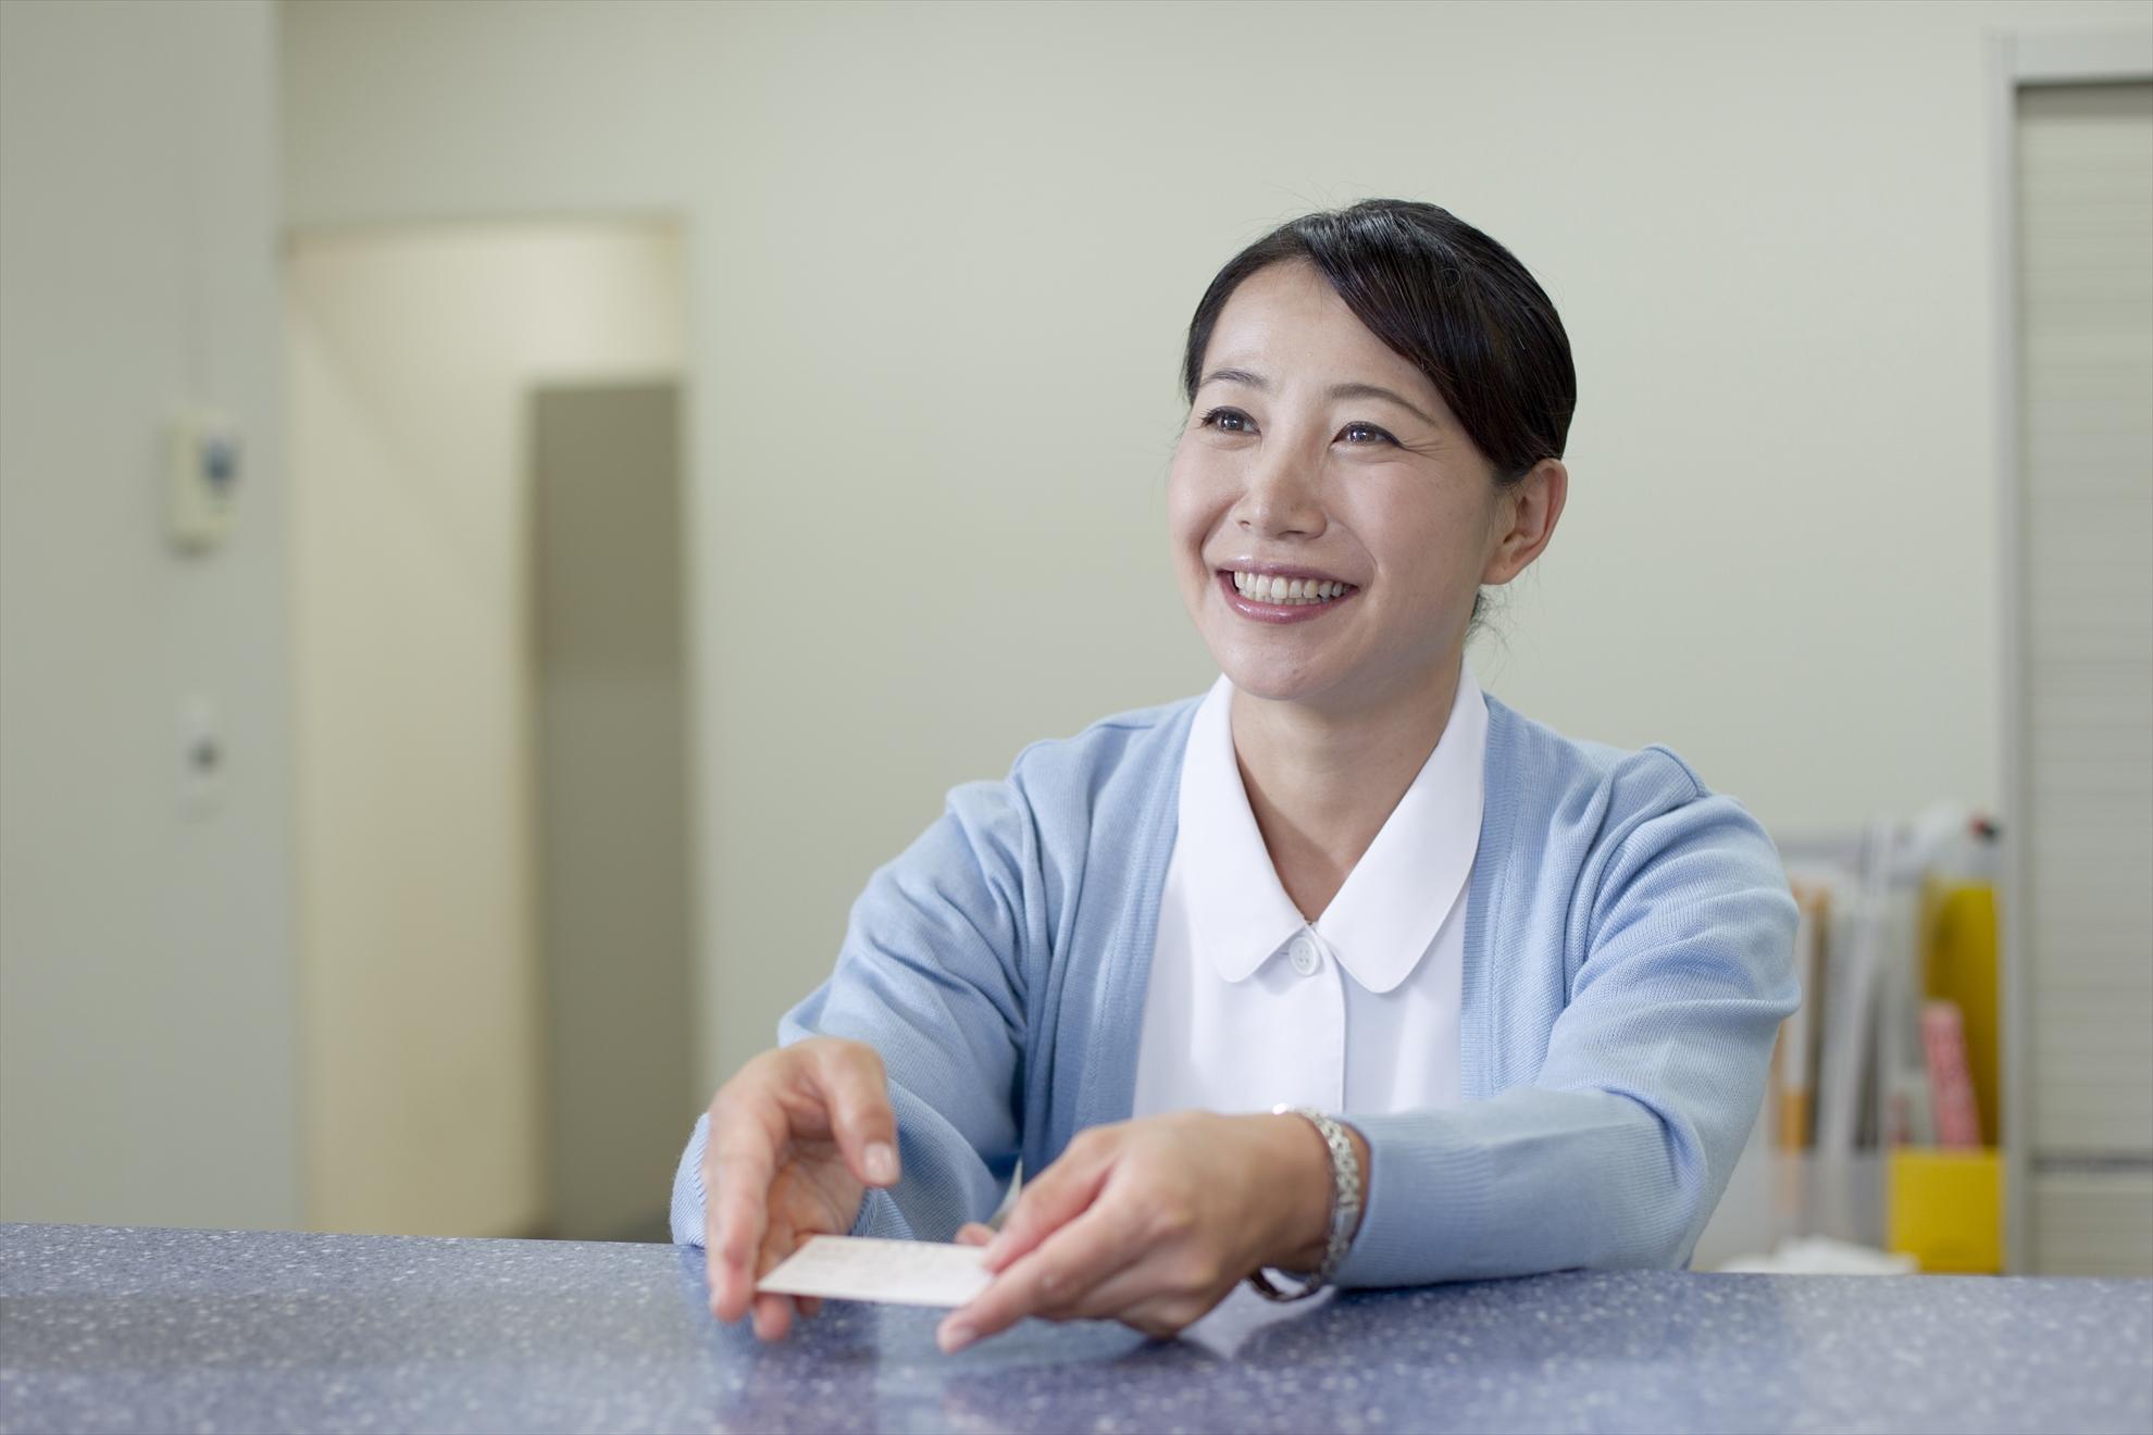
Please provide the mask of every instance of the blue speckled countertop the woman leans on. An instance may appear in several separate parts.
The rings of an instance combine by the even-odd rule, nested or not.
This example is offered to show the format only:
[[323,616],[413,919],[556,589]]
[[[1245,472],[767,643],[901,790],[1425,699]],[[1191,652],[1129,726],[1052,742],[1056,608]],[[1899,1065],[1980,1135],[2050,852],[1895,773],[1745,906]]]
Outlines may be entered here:
[[0,1226],[0,1431],[2153,1431],[2153,1282],[1533,1276],[1176,1342],[831,1304],[670,1246]]

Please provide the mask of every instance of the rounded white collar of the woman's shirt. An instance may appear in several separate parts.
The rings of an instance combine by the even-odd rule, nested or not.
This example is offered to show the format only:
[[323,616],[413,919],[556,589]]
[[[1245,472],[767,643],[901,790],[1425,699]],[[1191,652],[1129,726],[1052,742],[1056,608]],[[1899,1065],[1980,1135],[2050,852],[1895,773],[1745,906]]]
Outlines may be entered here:
[[[1307,919],[1270,865],[1234,759],[1234,684],[1221,676],[1197,708],[1182,759],[1176,858],[1197,947],[1225,981],[1244,981]],[[1473,873],[1488,777],[1488,701],[1473,669],[1458,669],[1458,699],[1436,751],[1384,820],[1376,841],[1331,899],[1315,936],[1369,992],[1402,983]]]

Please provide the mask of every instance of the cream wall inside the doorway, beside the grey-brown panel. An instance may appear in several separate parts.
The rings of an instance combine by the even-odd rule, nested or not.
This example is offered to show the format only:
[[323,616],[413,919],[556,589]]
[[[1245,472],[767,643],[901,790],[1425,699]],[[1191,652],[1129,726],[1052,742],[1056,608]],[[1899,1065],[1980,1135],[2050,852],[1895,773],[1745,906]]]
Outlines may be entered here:
[[308,1222],[547,1222],[530,387],[683,364],[678,237],[308,232],[289,260]]

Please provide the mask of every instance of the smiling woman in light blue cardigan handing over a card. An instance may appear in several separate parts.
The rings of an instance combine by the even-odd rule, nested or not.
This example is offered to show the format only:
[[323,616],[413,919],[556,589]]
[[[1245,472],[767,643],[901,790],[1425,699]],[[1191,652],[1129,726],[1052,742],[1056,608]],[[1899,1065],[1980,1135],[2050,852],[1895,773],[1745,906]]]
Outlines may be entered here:
[[1432,204],[1309,215],[1212,282],[1184,387],[1219,684],[1027,749],[870,880],[680,1162],[721,1319],[782,1336],[754,1280],[814,1233],[986,1241],[960,1349],[1169,1334],[1268,1271],[1681,1265],[1725,1190],[1796,1003],[1772,843],[1464,665],[1563,512],[1546,293]]

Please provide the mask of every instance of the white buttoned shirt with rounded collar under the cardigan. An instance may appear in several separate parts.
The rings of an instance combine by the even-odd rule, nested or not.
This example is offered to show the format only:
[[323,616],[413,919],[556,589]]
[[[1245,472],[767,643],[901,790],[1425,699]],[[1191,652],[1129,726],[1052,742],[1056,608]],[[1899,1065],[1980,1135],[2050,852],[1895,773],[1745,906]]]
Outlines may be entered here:
[[1315,923],[1279,884],[1249,811],[1232,701],[1221,676],[1188,729],[1135,1114],[1458,1106],[1466,889],[1488,749],[1473,671],[1460,665],[1436,751]]

